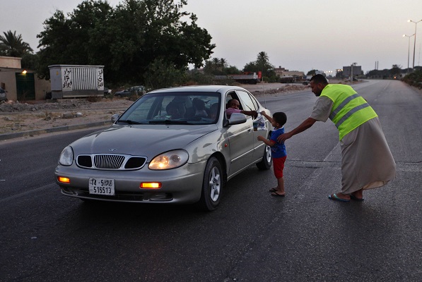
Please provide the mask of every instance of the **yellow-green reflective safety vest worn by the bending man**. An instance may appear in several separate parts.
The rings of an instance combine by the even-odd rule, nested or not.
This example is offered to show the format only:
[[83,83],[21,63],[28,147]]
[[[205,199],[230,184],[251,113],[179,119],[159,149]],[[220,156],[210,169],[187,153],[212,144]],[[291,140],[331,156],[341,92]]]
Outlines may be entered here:
[[349,85],[329,84],[321,96],[334,102],[329,119],[339,130],[340,140],[359,125],[377,117],[373,108]]

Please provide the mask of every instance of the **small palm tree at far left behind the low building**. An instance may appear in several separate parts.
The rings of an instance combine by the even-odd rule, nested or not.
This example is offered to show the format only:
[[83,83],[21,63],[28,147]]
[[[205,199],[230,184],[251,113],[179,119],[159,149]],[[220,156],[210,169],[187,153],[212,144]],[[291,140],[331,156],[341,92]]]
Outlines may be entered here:
[[10,57],[22,57],[23,54],[32,54],[33,49],[28,43],[23,42],[22,35],[16,35],[16,31],[3,32],[0,35],[0,55]]

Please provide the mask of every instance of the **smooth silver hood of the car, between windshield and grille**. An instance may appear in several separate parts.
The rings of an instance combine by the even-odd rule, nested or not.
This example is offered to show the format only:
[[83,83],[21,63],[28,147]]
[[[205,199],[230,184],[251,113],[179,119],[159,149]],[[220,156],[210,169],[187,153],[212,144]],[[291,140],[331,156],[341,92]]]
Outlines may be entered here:
[[71,144],[74,154],[130,154],[151,159],[171,149],[183,149],[216,125],[112,125]]

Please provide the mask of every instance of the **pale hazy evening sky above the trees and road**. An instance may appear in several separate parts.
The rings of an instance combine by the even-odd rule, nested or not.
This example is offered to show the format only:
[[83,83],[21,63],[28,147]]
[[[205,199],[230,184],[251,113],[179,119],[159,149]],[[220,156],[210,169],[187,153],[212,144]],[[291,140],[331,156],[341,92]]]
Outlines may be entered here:
[[[187,0],[216,44],[212,58],[242,69],[265,51],[276,68],[335,73],[356,63],[366,73],[421,66],[422,0]],[[37,51],[37,35],[54,11],[81,0],[0,0],[0,35],[11,30]],[[108,0],[116,6],[121,0]],[[414,58],[414,35],[416,49]],[[411,37],[404,37],[409,35]]]

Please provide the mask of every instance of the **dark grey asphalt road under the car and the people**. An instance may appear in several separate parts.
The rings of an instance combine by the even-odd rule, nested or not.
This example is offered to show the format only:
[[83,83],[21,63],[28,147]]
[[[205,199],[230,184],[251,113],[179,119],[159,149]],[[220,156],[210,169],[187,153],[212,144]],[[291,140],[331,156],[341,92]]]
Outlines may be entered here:
[[[364,202],[340,189],[338,133],[316,123],[286,142],[286,198],[272,171],[230,180],[211,213],[187,206],[86,204],[54,183],[61,149],[83,130],[0,144],[0,281],[421,281],[420,92],[356,85],[380,116],[397,178]],[[310,91],[262,97],[286,130],[309,116]]]

